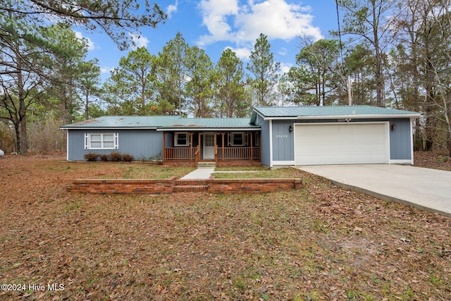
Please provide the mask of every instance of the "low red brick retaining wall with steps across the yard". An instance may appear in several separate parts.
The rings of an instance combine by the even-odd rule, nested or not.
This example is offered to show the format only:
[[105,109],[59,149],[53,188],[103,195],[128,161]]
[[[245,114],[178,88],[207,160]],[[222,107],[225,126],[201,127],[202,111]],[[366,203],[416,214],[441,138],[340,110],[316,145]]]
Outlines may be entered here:
[[209,180],[74,180],[69,192],[101,194],[169,195],[173,192],[264,193],[302,188],[300,179],[215,179]]

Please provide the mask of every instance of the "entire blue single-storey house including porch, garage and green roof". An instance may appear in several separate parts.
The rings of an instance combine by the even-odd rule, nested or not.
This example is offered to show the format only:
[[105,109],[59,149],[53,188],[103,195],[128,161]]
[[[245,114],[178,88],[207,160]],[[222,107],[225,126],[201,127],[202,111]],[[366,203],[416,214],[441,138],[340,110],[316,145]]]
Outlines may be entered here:
[[413,164],[419,117],[374,106],[273,106],[250,118],[104,116],[61,128],[70,161],[121,152],[177,166]]

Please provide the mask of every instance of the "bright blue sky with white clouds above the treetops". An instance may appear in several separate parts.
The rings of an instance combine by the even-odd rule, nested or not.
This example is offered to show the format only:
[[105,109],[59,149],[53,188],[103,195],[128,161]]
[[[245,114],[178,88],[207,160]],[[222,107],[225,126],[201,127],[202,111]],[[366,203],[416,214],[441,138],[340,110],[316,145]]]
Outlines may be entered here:
[[[213,63],[230,48],[246,66],[254,43],[263,33],[271,44],[274,61],[280,63],[282,72],[288,72],[300,50],[299,35],[327,39],[329,30],[338,29],[335,0],[155,1],[168,14],[166,23],[156,29],[142,28],[139,39],[132,37],[136,47],[147,47],[154,55],[180,32],[187,44],[204,49]],[[118,67],[121,57],[133,50],[120,51],[104,34],[77,34],[88,39],[87,59],[99,59],[103,80]]]

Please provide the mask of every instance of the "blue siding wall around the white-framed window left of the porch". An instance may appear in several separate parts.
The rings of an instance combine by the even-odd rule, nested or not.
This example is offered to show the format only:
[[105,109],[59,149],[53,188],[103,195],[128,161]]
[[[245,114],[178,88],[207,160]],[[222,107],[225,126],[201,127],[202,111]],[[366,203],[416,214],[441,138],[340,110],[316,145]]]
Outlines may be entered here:
[[[85,149],[85,133],[118,133],[118,149]],[[82,161],[88,152],[131,154],[135,160],[161,159],[163,133],[156,130],[69,130],[68,160]]]

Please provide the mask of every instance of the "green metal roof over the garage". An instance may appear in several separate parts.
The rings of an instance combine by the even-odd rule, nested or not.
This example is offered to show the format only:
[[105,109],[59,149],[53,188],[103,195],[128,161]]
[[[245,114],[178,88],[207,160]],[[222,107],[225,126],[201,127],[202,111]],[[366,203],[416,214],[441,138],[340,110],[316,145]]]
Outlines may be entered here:
[[322,119],[322,118],[388,118],[416,117],[420,113],[378,106],[260,106],[252,112],[252,123],[256,113],[266,119]]

